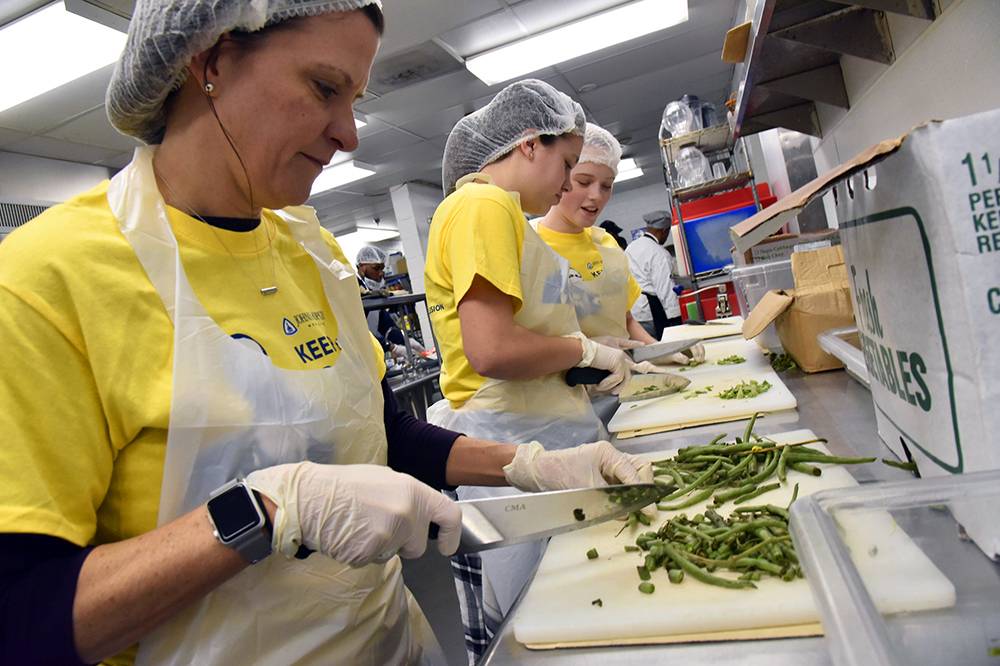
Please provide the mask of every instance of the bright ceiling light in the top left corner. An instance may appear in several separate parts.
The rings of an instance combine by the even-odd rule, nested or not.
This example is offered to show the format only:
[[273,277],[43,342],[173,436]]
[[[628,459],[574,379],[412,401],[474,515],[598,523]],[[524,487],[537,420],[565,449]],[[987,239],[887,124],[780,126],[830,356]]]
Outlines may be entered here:
[[[126,36],[56,2],[0,29],[0,111],[118,60]],[[15,64],[21,63],[21,64]]]

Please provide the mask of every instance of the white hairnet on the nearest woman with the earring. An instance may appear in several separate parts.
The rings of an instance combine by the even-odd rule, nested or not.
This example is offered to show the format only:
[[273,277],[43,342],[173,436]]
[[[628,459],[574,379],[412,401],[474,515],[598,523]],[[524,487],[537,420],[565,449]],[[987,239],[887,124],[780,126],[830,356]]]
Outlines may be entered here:
[[108,119],[122,134],[159,143],[167,96],[184,82],[191,58],[223,33],[367,5],[381,9],[382,0],[137,0],[108,85]]

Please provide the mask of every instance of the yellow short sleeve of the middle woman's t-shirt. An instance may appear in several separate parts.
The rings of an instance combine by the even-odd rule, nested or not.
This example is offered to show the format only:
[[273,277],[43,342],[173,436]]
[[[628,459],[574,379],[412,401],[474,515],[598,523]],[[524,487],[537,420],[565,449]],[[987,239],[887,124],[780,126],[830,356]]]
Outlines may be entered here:
[[490,198],[469,198],[456,208],[444,230],[440,253],[449,264],[456,305],[478,275],[513,298],[515,312],[520,309],[525,224]]

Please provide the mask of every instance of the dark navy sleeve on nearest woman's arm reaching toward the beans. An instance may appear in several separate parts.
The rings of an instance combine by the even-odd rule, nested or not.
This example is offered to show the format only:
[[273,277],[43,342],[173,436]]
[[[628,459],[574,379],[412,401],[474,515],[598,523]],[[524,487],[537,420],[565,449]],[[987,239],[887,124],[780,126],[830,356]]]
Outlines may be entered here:
[[389,467],[409,474],[432,488],[453,490],[445,480],[448,455],[460,433],[418,421],[399,408],[388,382],[382,380],[385,399],[385,436]]

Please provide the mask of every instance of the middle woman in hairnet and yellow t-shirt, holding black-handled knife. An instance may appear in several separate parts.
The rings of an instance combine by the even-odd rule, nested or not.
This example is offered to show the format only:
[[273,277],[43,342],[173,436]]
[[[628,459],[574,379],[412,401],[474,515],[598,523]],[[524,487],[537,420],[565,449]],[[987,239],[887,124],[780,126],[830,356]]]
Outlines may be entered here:
[[[613,451],[607,442],[577,446],[606,431],[586,390],[568,386],[565,371],[608,370],[600,388],[614,391],[633,367],[621,349],[580,332],[566,291],[569,265],[525,220],[525,213],[544,215],[571,189],[584,129],[579,104],[529,79],[460,120],[445,145],[447,197],[431,221],[425,280],[445,399],[428,420],[523,443],[515,466],[545,449],[566,449],[559,453],[567,460]],[[650,478],[649,469],[642,474]],[[458,496],[503,492],[462,486]],[[485,650],[541,549],[530,543],[453,560],[470,661]]]

